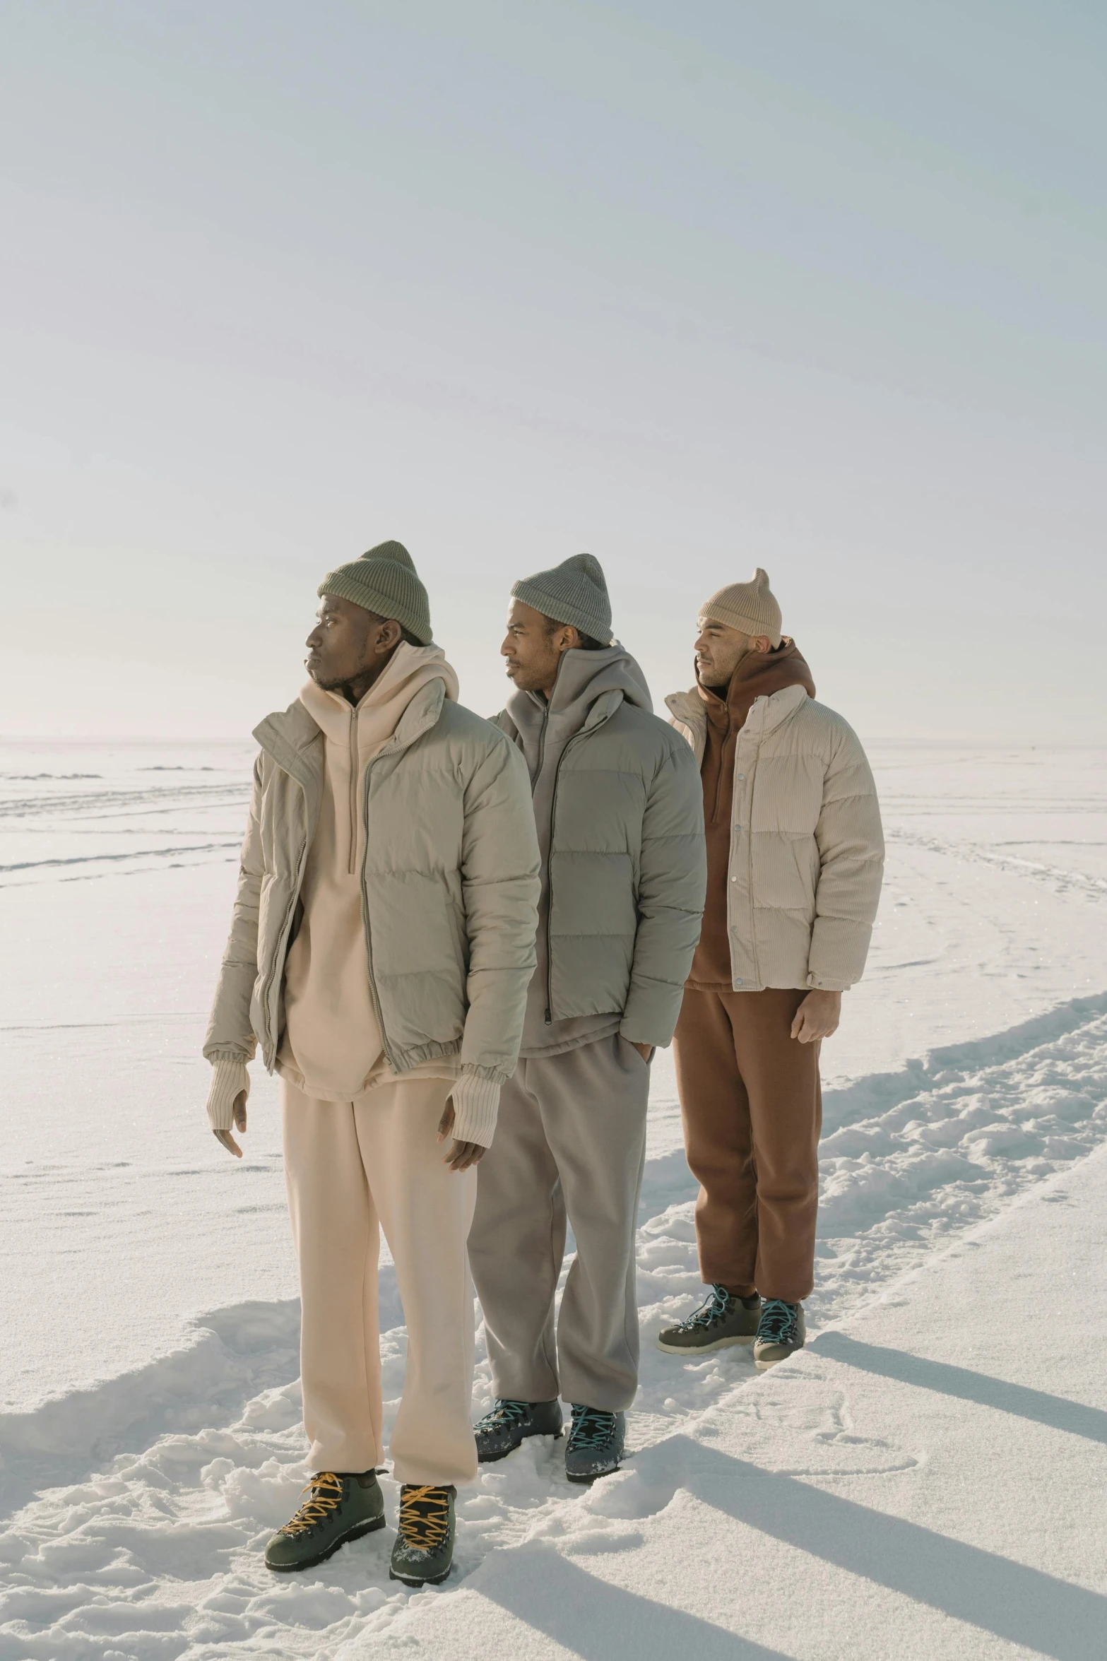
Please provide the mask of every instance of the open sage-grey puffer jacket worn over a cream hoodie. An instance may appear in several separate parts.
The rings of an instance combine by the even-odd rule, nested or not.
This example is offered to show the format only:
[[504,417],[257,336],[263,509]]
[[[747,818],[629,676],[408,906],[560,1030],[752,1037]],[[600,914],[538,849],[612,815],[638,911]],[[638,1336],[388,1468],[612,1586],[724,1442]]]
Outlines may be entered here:
[[[204,1055],[249,1061],[259,1045],[272,1071],[324,736],[297,699],[254,737],[261,754]],[[460,1055],[465,1070],[503,1083],[534,970],[539,887],[519,754],[432,681],[368,762],[360,809],[368,978],[388,1065],[403,1073]]]

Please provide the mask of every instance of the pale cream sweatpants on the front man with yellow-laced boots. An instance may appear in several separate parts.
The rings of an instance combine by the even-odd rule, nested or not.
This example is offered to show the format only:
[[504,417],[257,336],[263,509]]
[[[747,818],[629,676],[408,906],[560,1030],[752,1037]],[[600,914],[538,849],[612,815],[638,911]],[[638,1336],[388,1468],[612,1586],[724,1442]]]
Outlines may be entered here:
[[368,1470],[385,1453],[377,1320],[383,1229],[408,1332],[393,1473],[441,1485],[476,1475],[465,1251],[476,1168],[450,1171],[446,1144],[435,1141],[450,1090],[445,1078],[423,1078],[378,1085],[355,1101],[315,1101],[282,1080],[312,1470]]

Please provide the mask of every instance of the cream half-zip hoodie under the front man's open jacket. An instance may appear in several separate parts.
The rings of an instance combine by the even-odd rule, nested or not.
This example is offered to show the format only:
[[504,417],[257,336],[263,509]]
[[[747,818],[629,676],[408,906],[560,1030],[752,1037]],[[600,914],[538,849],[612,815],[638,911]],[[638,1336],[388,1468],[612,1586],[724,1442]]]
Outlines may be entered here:
[[[349,1101],[393,1076],[368,983],[362,794],[365,769],[395,734],[412,698],[433,679],[445,681],[446,698],[456,699],[458,678],[441,648],[402,641],[357,709],[314,681],[300,693],[322,729],[325,764],[319,824],[300,885],[304,914],[284,970],[277,1071],[319,1101]],[[427,1063],[417,1073],[451,1078],[456,1065]]]

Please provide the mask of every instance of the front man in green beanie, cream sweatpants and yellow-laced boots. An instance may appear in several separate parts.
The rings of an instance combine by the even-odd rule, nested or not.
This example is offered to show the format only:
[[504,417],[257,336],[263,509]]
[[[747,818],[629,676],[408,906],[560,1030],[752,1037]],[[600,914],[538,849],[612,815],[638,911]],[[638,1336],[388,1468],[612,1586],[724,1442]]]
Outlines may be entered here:
[[319,593],[310,679],[254,734],[207,1113],[241,1153],[261,1045],[282,1080],[315,1472],[266,1561],[309,1568],[383,1526],[383,1227],[408,1329],[392,1570],[422,1585],[450,1570],[455,1487],[476,1473],[466,1236],[534,970],[538,842],[523,757],[456,703],[407,550],[382,543]]

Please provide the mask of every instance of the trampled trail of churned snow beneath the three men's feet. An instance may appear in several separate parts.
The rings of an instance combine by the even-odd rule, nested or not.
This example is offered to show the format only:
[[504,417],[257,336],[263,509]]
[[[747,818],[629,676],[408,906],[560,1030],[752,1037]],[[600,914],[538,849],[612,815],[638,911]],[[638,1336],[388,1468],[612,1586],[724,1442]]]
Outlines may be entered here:
[[[883,1292],[929,1251],[1104,1141],[1107,995],[836,1095],[841,1111],[823,1143],[813,1327]],[[652,1347],[657,1329],[699,1292],[687,1171],[672,1156],[654,1164],[647,1194],[656,1211],[639,1231],[644,1342],[632,1445],[664,1440],[725,1402],[753,1442],[758,1427],[787,1425],[800,1467],[901,1468],[895,1452],[850,1435],[845,1405],[835,1423],[797,1417],[787,1372],[735,1397],[753,1377],[747,1350],[680,1362]],[[382,1281],[385,1307],[398,1314],[390,1271]],[[400,1325],[382,1340],[388,1418],[403,1340]],[[0,1531],[0,1658],[325,1661],[392,1624],[408,1593],[387,1580],[388,1533],[290,1585],[274,1585],[261,1563],[267,1531],[290,1513],[305,1477],[299,1385],[287,1382],[294,1354],[295,1306],[222,1311],[188,1350],[141,1374],[20,1422],[0,1418],[5,1483],[18,1488],[48,1472],[70,1483]],[[478,1397],[488,1397],[486,1364]],[[390,1478],[385,1488],[395,1518]],[[524,1445],[461,1498],[458,1566],[450,1590],[435,1596],[465,1585],[488,1551],[526,1538],[631,1548],[636,1535],[617,1513],[617,1488],[569,1488],[556,1445]]]

